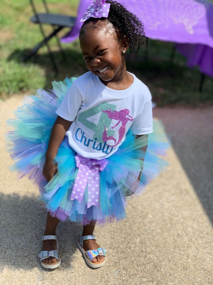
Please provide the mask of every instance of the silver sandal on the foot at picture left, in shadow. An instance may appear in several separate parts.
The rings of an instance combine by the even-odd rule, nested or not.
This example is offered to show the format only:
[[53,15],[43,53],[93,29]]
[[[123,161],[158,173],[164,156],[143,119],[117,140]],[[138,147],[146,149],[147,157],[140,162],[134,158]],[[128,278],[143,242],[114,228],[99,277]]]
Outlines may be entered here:
[[[42,264],[42,266],[44,268],[54,269],[54,268],[58,267],[61,264],[61,259],[60,259],[60,256],[58,254],[58,238],[57,238],[57,236],[53,236],[53,235],[42,236],[42,241],[44,241],[44,240],[56,240],[56,247],[57,247],[57,249],[54,249],[54,250],[51,250],[51,251],[42,250],[38,254],[38,257],[40,257],[41,264]],[[55,257],[57,259],[57,261],[52,262],[52,263],[42,262],[42,260],[48,258],[49,256]]]

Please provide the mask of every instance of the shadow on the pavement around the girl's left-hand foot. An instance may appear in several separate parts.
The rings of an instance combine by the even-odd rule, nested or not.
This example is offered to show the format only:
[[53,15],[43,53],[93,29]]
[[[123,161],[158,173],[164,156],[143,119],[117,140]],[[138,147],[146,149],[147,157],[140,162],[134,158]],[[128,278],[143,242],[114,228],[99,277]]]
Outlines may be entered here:
[[[0,272],[5,266],[24,270],[40,266],[43,270],[48,270],[40,265],[38,257],[45,229],[44,217],[47,214],[38,197],[1,193],[0,201],[3,213],[0,233],[3,245],[0,253]],[[59,236],[63,268],[72,269],[71,263],[75,259],[74,253],[77,249],[77,240],[82,234],[82,226],[70,221],[60,222],[56,234]],[[59,267],[58,270],[62,269]]]

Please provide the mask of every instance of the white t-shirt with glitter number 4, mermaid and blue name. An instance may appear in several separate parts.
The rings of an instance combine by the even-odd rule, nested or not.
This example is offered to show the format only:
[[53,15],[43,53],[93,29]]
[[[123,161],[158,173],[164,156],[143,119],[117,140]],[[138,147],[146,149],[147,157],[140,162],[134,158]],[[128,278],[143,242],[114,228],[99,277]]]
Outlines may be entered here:
[[130,74],[134,80],[125,90],[105,86],[91,72],[78,77],[68,89],[56,114],[73,121],[66,136],[81,156],[111,156],[125,140],[129,128],[136,135],[153,132],[151,94],[145,84]]

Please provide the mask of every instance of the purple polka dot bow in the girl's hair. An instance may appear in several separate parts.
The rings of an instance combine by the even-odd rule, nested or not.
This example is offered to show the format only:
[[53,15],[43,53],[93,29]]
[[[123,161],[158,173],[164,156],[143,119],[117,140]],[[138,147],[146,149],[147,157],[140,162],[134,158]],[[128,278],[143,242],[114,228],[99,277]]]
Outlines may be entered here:
[[108,17],[109,8],[110,8],[109,3],[106,3],[105,0],[93,0],[92,2],[93,4],[89,5],[80,22],[84,22],[90,17],[93,18]]

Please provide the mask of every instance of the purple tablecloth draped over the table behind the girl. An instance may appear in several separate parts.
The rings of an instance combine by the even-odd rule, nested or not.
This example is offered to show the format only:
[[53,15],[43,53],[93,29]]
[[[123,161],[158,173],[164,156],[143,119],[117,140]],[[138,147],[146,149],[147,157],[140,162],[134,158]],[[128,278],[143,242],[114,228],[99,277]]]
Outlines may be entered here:
[[[213,76],[213,5],[207,0],[120,0],[144,24],[146,36],[161,41],[193,44],[178,45],[189,66]],[[82,18],[91,0],[81,0],[74,28],[61,39],[69,43],[78,37]],[[203,46],[205,45],[205,46]]]

